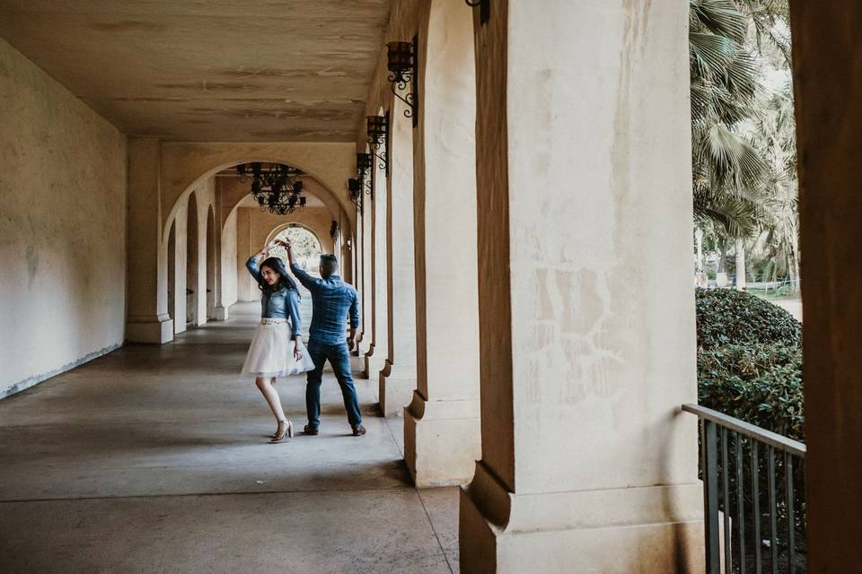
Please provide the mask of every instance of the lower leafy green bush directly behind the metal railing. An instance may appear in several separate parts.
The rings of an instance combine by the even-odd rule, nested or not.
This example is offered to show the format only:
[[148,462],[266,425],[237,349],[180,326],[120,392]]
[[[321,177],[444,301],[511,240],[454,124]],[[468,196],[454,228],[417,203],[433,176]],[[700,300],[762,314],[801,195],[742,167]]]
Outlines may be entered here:
[[728,344],[698,352],[700,404],[791,439],[805,439],[802,349]]

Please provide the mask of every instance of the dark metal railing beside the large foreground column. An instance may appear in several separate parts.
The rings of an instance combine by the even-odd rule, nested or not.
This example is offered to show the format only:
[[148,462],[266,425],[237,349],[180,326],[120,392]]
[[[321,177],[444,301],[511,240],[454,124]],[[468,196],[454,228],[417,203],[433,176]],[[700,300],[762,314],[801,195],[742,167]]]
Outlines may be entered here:
[[805,445],[697,404],[707,574],[807,571]]

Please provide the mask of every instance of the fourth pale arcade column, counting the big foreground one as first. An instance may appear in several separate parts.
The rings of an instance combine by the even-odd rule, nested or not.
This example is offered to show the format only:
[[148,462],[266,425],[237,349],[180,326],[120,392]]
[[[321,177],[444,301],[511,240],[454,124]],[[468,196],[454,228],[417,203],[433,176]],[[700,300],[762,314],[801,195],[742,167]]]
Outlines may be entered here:
[[[379,163],[379,160],[374,159]],[[375,163],[376,165],[376,163]],[[365,378],[377,377],[389,355],[386,337],[386,289],[389,274],[386,269],[386,202],[389,182],[386,171],[377,169],[374,176],[374,201],[369,202],[371,213],[371,345],[365,352]]]

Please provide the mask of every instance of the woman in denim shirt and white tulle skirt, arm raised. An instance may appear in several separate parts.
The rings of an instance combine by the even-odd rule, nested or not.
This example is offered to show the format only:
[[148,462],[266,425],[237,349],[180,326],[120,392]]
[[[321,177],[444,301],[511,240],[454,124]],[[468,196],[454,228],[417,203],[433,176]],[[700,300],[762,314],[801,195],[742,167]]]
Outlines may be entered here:
[[[268,257],[269,249],[285,245],[274,241],[246,262],[249,273],[258,282],[260,324],[251,340],[242,374],[253,376],[260,393],[267,399],[278,426],[271,442],[294,436],[294,425],[281,408],[281,399],[273,385],[277,377],[286,377],[314,369],[314,363],[303,353],[303,326],[299,318],[299,291],[296,283],[278,257]],[[259,263],[260,260],[262,263]],[[289,323],[288,323],[289,319]]]

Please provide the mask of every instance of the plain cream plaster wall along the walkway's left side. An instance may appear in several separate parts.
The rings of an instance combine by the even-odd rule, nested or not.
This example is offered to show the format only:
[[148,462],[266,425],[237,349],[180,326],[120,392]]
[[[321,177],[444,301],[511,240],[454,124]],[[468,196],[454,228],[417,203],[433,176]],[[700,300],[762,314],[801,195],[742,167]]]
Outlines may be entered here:
[[126,137],[0,40],[0,396],[123,342]]

